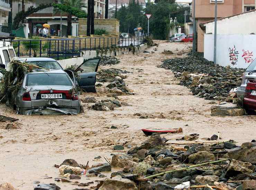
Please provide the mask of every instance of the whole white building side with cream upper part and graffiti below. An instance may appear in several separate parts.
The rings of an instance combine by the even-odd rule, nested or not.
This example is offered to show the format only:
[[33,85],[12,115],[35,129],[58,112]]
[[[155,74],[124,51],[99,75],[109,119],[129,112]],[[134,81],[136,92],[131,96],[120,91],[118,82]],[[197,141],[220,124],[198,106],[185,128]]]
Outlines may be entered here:
[[[217,20],[217,64],[247,68],[256,59],[256,10]],[[200,24],[204,34],[204,58],[213,61],[214,20]]]

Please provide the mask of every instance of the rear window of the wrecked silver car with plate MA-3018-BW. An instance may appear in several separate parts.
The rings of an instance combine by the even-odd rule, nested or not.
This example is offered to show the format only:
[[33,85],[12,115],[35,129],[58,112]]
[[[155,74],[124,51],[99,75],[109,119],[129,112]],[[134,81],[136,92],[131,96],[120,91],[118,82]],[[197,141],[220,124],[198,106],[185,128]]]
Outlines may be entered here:
[[33,73],[27,76],[27,86],[73,86],[65,73]]

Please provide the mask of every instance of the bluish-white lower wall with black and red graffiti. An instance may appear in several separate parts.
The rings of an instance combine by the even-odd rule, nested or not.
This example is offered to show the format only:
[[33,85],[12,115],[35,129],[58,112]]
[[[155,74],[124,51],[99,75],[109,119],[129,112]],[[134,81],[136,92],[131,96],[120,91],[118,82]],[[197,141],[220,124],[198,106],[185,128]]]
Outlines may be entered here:
[[[256,35],[217,35],[217,64],[247,68],[256,58]],[[214,35],[204,35],[204,58],[213,61]]]

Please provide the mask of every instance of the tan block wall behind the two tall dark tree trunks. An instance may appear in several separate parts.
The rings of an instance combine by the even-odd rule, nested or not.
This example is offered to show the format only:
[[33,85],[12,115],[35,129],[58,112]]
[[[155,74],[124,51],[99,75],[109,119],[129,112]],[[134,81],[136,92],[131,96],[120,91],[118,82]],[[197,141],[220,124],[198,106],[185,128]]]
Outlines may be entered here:
[[[94,29],[105,29],[109,34],[119,35],[119,20],[94,19]],[[86,35],[87,19],[79,19],[79,35]]]

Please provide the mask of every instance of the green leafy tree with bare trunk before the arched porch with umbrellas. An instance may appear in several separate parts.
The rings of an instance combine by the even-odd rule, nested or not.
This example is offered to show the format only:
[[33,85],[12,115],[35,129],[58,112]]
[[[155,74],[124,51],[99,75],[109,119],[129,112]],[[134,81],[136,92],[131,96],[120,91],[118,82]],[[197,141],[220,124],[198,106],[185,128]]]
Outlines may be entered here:
[[72,35],[72,15],[75,15],[79,18],[86,17],[86,14],[81,11],[82,7],[86,7],[83,3],[83,0],[61,0],[61,3],[54,3],[53,6],[58,8],[67,15],[67,36]]

